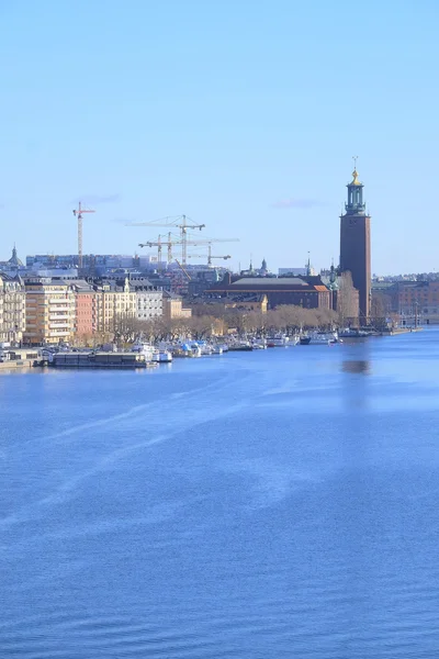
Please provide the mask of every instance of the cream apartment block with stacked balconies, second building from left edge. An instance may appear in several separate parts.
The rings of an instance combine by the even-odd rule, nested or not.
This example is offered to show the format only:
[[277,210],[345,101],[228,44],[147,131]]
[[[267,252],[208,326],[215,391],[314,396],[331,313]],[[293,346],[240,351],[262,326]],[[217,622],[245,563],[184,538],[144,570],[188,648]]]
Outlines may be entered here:
[[26,326],[23,340],[31,345],[69,342],[75,336],[76,297],[61,279],[29,277],[25,284]]

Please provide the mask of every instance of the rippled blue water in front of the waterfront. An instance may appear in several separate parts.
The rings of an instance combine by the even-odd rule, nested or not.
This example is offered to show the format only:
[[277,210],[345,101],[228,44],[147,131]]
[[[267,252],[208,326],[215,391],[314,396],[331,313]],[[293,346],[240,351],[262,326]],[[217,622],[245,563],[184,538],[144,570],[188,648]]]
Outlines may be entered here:
[[0,376],[2,659],[439,651],[439,332]]

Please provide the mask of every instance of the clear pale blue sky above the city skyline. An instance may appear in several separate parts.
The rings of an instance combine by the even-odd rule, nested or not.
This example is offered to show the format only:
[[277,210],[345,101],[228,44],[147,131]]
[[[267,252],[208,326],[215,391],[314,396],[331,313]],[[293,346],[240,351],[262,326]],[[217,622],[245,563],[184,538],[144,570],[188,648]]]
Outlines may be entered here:
[[436,0],[0,0],[0,258],[75,253],[82,198],[85,253],[185,213],[240,238],[216,247],[235,266],[325,267],[358,155],[373,270],[438,268],[438,19]]

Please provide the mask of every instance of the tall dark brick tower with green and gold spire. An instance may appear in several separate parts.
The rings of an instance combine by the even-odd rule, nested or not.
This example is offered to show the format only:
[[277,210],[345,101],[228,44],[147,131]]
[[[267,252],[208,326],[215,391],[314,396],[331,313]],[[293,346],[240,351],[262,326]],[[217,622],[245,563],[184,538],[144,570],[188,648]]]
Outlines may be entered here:
[[365,213],[363,185],[358,180],[357,166],[348,183],[348,202],[340,216],[340,271],[349,271],[360,297],[360,324],[370,320],[371,246],[370,216]]

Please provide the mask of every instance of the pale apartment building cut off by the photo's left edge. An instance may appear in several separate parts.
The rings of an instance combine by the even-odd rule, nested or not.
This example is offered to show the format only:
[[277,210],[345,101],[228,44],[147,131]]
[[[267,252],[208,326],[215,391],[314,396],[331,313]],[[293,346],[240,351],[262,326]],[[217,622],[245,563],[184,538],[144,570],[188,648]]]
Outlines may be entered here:
[[20,343],[25,330],[25,291],[19,275],[0,273],[0,340]]

